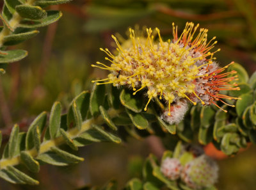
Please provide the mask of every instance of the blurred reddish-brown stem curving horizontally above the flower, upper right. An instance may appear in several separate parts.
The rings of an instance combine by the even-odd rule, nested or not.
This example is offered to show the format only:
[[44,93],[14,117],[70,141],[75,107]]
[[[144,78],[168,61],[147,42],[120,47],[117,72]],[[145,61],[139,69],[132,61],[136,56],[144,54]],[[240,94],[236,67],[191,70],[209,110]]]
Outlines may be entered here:
[[156,4],[155,6],[158,12],[164,13],[166,15],[170,15],[172,17],[178,17],[180,19],[186,20],[197,20],[197,21],[209,21],[209,20],[217,20],[217,19],[225,19],[230,17],[241,17],[242,14],[235,10],[230,10],[227,12],[219,12],[219,13],[210,13],[207,15],[197,15],[190,14],[186,12],[181,12],[177,10],[173,10],[172,8],[168,8],[167,6]]

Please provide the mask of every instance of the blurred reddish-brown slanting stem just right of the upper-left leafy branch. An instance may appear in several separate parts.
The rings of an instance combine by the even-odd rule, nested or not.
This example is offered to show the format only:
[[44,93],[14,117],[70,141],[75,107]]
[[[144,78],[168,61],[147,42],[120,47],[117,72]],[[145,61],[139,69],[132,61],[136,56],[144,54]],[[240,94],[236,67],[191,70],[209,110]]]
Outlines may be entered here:
[[[59,10],[58,5],[51,6],[52,10]],[[47,28],[47,32],[45,35],[44,45],[43,45],[43,52],[42,52],[42,59],[40,63],[39,68],[39,81],[41,81],[42,76],[44,75],[45,68],[47,67],[47,63],[49,62],[51,51],[52,51],[52,42],[54,40],[54,37],[56,35],[58,22],[54,22],[53,24],[50,24]]]

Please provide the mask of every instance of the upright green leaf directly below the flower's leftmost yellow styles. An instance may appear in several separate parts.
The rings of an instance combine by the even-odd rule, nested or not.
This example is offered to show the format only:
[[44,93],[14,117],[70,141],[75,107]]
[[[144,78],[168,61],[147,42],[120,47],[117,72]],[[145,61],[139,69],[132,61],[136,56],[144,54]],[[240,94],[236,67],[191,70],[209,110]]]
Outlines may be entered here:
[[93,84],[92,93],[90,96],[90,112],[93,116],[99,115],[99,106],[102,106],[104,104],[105,92],[106,89],[104,84]]

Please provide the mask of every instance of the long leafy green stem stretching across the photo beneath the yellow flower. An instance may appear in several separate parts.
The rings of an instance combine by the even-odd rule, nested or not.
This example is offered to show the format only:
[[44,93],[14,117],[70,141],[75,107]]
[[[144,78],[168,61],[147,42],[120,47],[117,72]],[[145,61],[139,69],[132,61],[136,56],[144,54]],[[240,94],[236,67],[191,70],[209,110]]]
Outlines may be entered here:
[[[126,126],[124,129],[127,134],[134,138],[143,138],[149,134],[163,134],[163,132],[170,136],[177,132],[179,138],[186,142],[195,141],[196,138],[202,145],[213,142],[216,148],[220,148],[227,155],[236,154],[239,148],[246,147],[250,141],[256,142],[256,103],[252,88],[239,95],[241,100],[237,100],[236,108],[222,106],[223,109],[228,110],[227,113],[214,107],[194,106],[179,125],[168,125],[159,118],[161,114],[159,111],[163,109],[161,102],[150,102],[148,110],[142,111],[143,103],[138,100],[143,98],[143,91],[134,98],[132,91],[120,92],[113,87],[111,91],[106,91],[107,86],[95,85],[91,93],[84,91],[77,95],[70,104],[67,115],[61,115],[61,104],[55,102],[51,109],[48,126],[45,126],[47,120],[45,112],[35,118],[27,133],[19,132],[18,125],[15,125],[0,160],[2,173],[0,176],[14,183],[36,184],[34,180],[29,180],[27,175],[20,173],[21,171],[13,166],[24,164],[30,171],[38,172],[42,163],[66,166],[83,161],[83,158],[61,150],[58,146],[66,144],[73,150],[77,150],[78,146],[101,141],[120,143],[121,139],[116,134],[122,128],[119,126],[122,125]],[[117,95],[119,99],[116,99]],[[104,100],[108,101],[104,102]],[[122,106],[115,106],[115,109],[112,107],[113,102]],[[65,117],[67,120],[61,119]],[[166,152],[165,156],[179,156],[179,147],[181,147],[180,143],[173,154]],[[166,184],[170,189],[177,189],[174,182],[167,181],[161,175],[154,157],[150,156],[147,159],[145,167],[143,176],[147,182],[154,185]],[[10,178],[11,175],[12,178]],[[131,182],[130,185],[133,186],[133,183]],[[150,188],[150,184],[147,183],[145,186]]]

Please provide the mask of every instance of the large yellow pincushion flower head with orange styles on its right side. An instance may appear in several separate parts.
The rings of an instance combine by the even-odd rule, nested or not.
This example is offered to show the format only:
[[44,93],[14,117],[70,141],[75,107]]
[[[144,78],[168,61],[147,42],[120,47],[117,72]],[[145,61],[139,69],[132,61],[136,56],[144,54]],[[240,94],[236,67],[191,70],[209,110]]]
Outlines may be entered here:
[[[220,49],[211,51],[217,43],[214,41],[216,37],[208,41],[208,29],[204,28],[199,29],[199,33],[196,34],[199,25],[194,26],[193,22],[186,23],[180,36],[177,26],[174,24],[172,26],[173,39],[166,42],[161,38],[158,28],[156,28],[158,40],[154,40],[151,28],[146,29],[147,36],[142,38],[136,37],[134,30],[129,29],[132,45],[130,47],[126,45],[125,48],[112,35],[118,54],[115,56],[108,49],[100,49],[106,52],[109,57],[106,60],[110,61],[111,65],[100,62],[92,65],[109,70],[111,73],[108,78],[93,82],[129,86],[134,90],[134,95],[145,89],[148,97],[145,111],[152,99],[156,97],[164,99],[168,105],[165,118],[172,116],[172,110],[175,110],[172,106],[180,100],[184,102],[186,99],[194,105],[200,102],[202,105],[218,106],[216,104],[218,100],[227,104],[222,99],[237,99],[220,93],[221,90],[239,90],[239,88],[235,87],[236,83],[230,83],[237,80],[237,76],[229,77],[236,72],[223,73],[228,66],[220,68],[214,61],[214,53],[220,51]],[[179,120],[174,118],[170,123]]]

